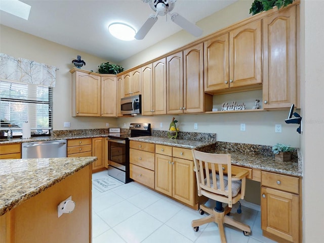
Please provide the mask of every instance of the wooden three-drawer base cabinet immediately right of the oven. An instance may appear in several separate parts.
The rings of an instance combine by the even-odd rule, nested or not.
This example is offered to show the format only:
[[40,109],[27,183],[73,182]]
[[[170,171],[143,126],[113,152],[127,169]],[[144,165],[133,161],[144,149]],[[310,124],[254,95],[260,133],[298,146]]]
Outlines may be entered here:
[[154,150],[152,143],[130,141],[130,178],[154,189]]

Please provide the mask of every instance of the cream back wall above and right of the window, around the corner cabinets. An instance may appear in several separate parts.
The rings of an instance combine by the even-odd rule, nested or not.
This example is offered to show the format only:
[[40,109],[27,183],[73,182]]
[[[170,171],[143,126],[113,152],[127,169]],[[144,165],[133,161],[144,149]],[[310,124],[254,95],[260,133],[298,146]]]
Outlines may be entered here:
[[[77,55],[82,57],[86,66],[82,69],[98,71],[98,65],[107,62],[46,39],[42,39],[24,32],[0,25],[0,52],[16,58],[26,58],[35,62],[56,66],[56,87],[53,95],[53,128],[54,130],[65,129],[91,129],[105,128],[106,123],[115,127],[116,118],[101,117],[72,117],[71,116],[71,73],[74,67],[71,63]],[[64,128],[64,121],[70,121],[71,127]]]

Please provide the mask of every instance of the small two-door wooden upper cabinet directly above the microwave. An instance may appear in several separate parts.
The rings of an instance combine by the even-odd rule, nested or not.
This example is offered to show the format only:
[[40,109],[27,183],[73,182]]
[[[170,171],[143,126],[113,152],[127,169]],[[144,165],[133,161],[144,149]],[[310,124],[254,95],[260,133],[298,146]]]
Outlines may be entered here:
[[140,95],[142,93],[141,68],[124,75],[124,97]]

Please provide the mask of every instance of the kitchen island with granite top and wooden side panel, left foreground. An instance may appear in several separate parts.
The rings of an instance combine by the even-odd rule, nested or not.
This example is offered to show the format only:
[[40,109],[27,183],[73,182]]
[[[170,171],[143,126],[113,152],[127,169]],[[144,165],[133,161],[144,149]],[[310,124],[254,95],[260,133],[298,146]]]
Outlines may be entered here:
[[[1,159],[0,242],[91,242],[96,159]],[[58,205],[69,196],[73,212],[58,217]]]

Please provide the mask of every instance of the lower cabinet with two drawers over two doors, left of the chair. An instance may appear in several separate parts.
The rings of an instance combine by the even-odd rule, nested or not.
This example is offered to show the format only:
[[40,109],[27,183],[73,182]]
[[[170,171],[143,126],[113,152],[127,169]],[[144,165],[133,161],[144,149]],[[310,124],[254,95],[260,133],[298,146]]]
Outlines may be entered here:
[[196,185],[190,149],[155,145],[155,190],[195,206]]

